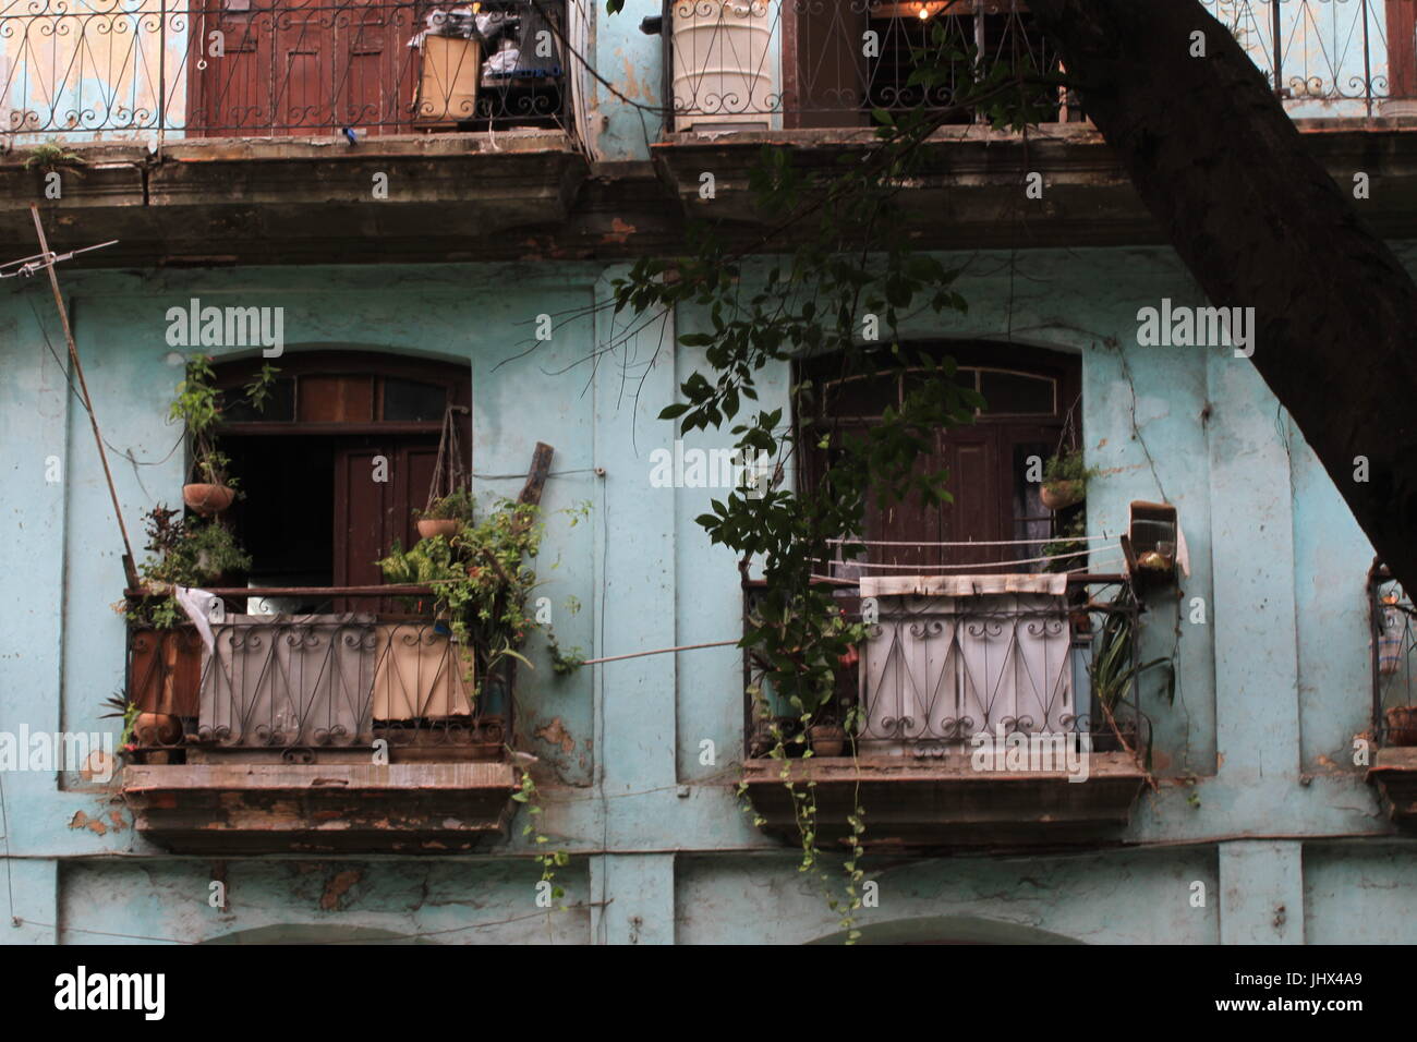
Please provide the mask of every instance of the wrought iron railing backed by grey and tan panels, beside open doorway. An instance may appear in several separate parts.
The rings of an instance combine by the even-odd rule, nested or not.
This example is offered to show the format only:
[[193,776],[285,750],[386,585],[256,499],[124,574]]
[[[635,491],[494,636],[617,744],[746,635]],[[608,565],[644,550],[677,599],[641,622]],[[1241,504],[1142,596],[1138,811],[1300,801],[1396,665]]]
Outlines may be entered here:
[[[429,618],[227,615],[129,629],[133,741],[149,761],[499,758],[512,671],[475,676]],[[153,757],[153,754],[157,754]]]

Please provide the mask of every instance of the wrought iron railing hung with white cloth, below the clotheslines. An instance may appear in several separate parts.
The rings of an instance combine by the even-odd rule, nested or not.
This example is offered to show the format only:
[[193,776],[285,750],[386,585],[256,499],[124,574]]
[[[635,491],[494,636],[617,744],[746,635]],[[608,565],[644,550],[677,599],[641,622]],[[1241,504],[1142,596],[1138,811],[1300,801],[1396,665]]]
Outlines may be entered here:
[[[1148,743],[1141,712],[1139,605],[1097,600],[1088,590],[1121,588],[1121,576],[951,577],[942,593],[891,593],[917,580],[863,578],[836,590],[850,621],[866,621],[857,661],[837,672],[835,716],[856,707],[860,756],[942,756],[978,734],[1087,734],[1094,751]],[[930,583],[939,577],[925,577]],[[965,587],[979,593],[965,593]],[[761,583],[745,586],[745,625]],[[863,605],[869,611],[863,617]],[[764,679],[765,663],[744,661],[748,756],[772,747],[772,726],[799,729]],[[761,692],[754,695],[754,692]],[[1105,705],[1104,705],[1105,703]]]

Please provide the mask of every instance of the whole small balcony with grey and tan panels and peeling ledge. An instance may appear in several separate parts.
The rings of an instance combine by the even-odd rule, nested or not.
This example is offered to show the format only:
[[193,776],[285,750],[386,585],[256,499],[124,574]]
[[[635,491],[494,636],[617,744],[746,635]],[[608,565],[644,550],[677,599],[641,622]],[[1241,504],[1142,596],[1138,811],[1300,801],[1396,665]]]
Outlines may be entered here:
[[[349,590],[305,591],[320,594]],[[123,795],[139,832],[177,852],[470,848],[503,829],[516,788],[513,676],[470,662],[414,615],[217,610],[132,628]]]

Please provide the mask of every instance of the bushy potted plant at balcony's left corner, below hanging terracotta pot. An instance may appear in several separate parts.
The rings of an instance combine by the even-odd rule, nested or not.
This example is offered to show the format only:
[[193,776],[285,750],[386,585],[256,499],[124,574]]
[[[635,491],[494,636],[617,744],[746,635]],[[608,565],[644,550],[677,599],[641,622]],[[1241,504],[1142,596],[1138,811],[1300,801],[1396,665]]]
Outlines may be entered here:
[[128,605],[128,620],[135,625],[170,629],[186,621],[171,587],[201,586],[251,567],[251,557],[217,520],[183,517],[159,503],[147,512],[143,527],[147,533],[147,559],[139,567],[143,594]]

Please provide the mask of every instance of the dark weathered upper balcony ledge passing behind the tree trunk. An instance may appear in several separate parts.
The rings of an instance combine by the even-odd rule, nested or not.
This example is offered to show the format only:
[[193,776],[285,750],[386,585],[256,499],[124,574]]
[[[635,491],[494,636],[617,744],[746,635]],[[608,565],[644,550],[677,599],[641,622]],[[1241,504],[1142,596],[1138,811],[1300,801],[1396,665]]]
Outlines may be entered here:
[[[1353,173],[1382,184],[1359,203],[1383,238],[1417,235],[1417,125],[1410,119],[1298,121],[1304,140],[1338,186]],[[764,145],[791,149],[803,173],[842,169],[842,157],[866,152],[864,128],[777,130],[707,136],[676,135],[652,147],[686,217],[711,217],[740,235],[775,227],[748,189]],[[1043,197],[1024,196],[1029,172],[1043,174]],[[699,196],[700,176],[714,176],[714,198]],[[920,245],[952,248],[1112,247],[1165,244],[1111,146],[1090,123],[1039,128],[1027,139],[989,128],[945,128],[920,150],[920,167],[903,183],[905,227]],[[811,223],[806,223],[811,224]]]

